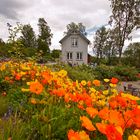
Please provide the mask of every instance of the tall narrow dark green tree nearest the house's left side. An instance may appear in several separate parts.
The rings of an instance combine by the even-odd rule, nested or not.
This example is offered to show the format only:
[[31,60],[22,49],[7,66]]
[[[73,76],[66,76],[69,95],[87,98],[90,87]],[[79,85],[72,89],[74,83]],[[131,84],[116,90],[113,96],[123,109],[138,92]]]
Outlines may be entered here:
[[42,52],[42,55],[50,53],[49,46],[51,45],[52,33],[44,18],[38,20],[39,36],[38,36],[38,51]]

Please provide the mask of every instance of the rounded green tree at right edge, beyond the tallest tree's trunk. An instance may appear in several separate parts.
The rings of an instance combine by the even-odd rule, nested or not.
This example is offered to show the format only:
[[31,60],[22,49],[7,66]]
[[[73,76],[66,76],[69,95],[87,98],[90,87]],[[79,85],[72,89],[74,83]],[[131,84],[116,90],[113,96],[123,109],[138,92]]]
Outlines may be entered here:
[[124,62],[140,68],[140,42],[131,43],[123,53]]

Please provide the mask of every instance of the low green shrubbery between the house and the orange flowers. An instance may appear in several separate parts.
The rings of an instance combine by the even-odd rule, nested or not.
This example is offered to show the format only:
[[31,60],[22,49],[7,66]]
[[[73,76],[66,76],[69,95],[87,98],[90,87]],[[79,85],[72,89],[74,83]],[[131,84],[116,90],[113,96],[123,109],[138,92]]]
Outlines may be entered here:
[[60,70],[65,69],[68,72],[68,76],[73,80],[102,80],[104,78],[116,77],[119,80],[135,81],[138,80],[138,71],[135,67],[129,67],[126,65],[118,66],[107,66],[97,65],[96,67],[80,65],[80,66],[69,66],[69,65],[54,65],[53,69]]

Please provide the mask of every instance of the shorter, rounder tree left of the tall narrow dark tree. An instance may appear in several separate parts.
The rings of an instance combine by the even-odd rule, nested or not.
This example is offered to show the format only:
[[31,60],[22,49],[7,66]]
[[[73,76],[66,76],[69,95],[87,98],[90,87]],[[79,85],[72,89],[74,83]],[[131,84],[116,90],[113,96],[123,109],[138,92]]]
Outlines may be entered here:
[[36,47],[35,32],[30,24],[23,26],[21,34],[20,40],[24,47]]

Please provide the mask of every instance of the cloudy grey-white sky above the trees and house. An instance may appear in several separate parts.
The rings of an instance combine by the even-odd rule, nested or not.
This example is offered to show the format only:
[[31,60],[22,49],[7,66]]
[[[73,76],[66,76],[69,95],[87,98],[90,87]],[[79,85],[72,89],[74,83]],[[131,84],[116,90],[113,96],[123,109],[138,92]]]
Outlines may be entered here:
[[[0,38],[6,41],[7,23],[15,26],[16,22],[30,24],[38,34],[38,18],[44,18],[53,33],[51,49],[60,49],[59,40],[71,22],[83,23],[93,43],[96,30],[108,24],[110,15],[109,0],[0,0]],[[132,41],[140,41],[140,30],[133,32]]]

